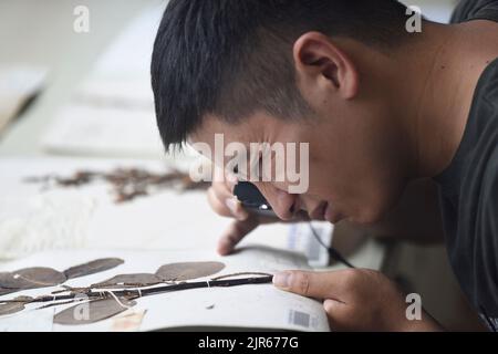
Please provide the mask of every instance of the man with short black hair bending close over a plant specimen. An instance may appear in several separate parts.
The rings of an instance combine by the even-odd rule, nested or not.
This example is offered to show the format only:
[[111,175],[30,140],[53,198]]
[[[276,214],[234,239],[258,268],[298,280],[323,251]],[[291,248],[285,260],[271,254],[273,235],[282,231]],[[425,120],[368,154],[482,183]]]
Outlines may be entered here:
[[[406,30],[394,0],[172,0],[157,34],[153,87],[167,148],[310,143],[310,184],[257,183],[280,219],[346,220],[427,238],[442,225],[468,299],[498,325],[498,1],[463,1],[444,25]],[[237,218],[219,251],[261,219],[214,183]],[[413,189],[418,188],[418,189]],[[415,190],[415,191],[414,191]],[[418,192],[417,190],[423,190]],[[408,321],[405,298],[367,270],[289,271],[274,284],[322,299],[334,330],[437,331]]]

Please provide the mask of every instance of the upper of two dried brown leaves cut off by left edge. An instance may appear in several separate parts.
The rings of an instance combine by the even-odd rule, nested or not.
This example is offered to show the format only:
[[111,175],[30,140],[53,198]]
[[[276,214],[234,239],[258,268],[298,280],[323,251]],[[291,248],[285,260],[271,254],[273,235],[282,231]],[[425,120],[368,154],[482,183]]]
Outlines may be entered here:
[[0,273],[0,288],[11,290],[53,287],[65,281],[65,275],[52,268],[27,268]]

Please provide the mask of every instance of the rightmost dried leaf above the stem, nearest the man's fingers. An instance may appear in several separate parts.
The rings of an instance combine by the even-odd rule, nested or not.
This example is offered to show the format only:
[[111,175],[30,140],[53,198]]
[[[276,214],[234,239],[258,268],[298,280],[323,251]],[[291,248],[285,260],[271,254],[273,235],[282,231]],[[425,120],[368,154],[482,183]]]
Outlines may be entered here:
[[221,262],[184,262],[160,267],[156,275],[164,281],[184,281],[216,274],[225,268]]

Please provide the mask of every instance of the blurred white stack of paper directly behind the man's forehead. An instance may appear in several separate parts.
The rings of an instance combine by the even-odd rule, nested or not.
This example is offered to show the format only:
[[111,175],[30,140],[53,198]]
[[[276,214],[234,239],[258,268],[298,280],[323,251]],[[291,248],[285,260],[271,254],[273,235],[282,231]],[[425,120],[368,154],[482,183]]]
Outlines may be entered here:
[[151,59],[164,4],[133,21],[98,60],[43,138],[49,153],[158,158]]

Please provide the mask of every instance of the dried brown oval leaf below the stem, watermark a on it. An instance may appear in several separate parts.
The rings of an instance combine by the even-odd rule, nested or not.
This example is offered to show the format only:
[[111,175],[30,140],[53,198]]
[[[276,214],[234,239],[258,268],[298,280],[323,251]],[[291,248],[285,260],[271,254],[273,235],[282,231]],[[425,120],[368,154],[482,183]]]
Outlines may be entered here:
[[53,317],[53,322],[64,325],[95,323],[115,316],[116,314],[128,310],[126,306],[134,306],[136,304],[135,301],[128,301],[126,299],[120,299],[120,301],[122,304],[114,299],[80,303],[56,313]]

